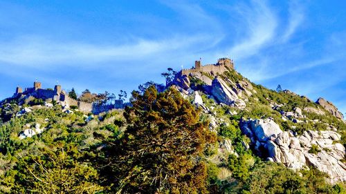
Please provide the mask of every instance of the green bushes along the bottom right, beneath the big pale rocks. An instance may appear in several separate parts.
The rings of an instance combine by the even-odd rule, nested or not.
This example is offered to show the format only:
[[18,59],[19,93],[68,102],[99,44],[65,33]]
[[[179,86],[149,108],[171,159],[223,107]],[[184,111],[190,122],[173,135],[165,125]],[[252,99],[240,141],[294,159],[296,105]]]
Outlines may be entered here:
[[[312,168],[312,167],[311,167]],[[242,193],[340,193],[343,186],[331,186],[325,175],[312,168],[302,176],[282,164],[260,162],[251,170]],[[246,193],[245,192],[245,193]]]

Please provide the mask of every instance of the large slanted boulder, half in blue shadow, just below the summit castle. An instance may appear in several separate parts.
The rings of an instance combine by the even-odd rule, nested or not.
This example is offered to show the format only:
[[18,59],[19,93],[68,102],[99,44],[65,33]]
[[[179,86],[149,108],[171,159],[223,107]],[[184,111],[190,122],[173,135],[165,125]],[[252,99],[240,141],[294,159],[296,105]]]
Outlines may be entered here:
[[220,77],[215,77],[212,80],[211,93],[217,101],[227,105],[234,104],[234,101],[238,99],[237,94]]

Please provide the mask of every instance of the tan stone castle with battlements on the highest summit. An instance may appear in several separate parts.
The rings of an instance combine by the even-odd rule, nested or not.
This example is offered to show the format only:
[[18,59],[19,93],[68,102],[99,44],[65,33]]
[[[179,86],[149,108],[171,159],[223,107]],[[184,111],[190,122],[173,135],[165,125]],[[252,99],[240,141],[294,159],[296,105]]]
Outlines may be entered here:
[[202,66],[201,61],[194,61],[194,68],[181,70],[181,75],[190,75],[190,73],[204,72],[209,75],[217,75],[225,72],[226,70],[234,70],[235,66],[233,60],[229,58],[221,58],[217,60],[217,64],[208,64]]

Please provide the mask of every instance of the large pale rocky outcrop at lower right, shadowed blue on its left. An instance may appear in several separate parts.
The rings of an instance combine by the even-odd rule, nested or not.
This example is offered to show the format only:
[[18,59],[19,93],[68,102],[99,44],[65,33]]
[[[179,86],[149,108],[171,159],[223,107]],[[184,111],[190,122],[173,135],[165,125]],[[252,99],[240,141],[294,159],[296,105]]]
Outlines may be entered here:
[[[242,131],[251,138],[257,151],[266,149],[268,161],[282,163],[299,170],[311,164],[329,175],[331,183],[346,181],[345,147],[334,141],[340,135],[331,130],[304,131],[302,135],[282,131],[271,119],[255,119],[242,122]],[[311,148],[318,148],[312,153]]]

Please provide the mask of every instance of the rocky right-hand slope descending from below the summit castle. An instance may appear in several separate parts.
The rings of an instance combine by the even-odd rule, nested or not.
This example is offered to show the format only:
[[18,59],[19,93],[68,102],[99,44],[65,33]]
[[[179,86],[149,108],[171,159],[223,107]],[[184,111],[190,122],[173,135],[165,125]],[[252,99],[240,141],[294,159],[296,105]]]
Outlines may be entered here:
[[[198,71],[178,74],[172,85],[185,97],[192,96],[194,104],[210,117],[210,130],[215,133],[220,133],[221,126],[230,125],[227,117],[240,113],[242,133],[251,139],[250,146],[242,142],[246,149],[252,148],[263,159],[282,163],[295,171],[314,166],[326,173],[332,184],[346,181],[346,153],[344,143],[340,143],[340,134],[346,127],[340,124],[343,115],[331,102],[320,98],[313,103],[289,90],[275,93],[252,84],[235,70],[221,75]],[[205,104],[201,95],[214,99],[216,104]],[[215,111],[217,106],[232,110],[224,117]],[[246,115],[261,116],[251,119]],[[219,152],[238,155],[227,138],[219,142]]]

